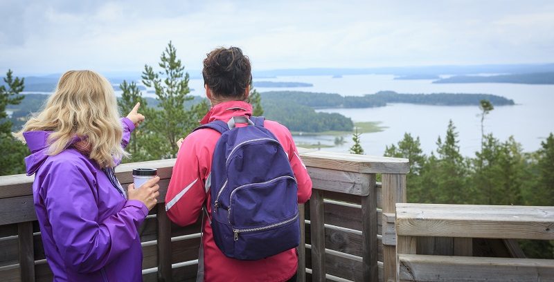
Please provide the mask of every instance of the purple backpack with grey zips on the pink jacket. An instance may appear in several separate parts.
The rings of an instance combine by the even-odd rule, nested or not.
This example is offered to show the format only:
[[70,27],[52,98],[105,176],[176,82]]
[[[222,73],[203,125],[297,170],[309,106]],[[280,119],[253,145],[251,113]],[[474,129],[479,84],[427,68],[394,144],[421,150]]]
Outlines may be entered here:
[[240,116],[197,128],[222,134],[213,153],[211,226],[217,247],[233,259],[263,259],[300,240],[296,178],[264,120]]

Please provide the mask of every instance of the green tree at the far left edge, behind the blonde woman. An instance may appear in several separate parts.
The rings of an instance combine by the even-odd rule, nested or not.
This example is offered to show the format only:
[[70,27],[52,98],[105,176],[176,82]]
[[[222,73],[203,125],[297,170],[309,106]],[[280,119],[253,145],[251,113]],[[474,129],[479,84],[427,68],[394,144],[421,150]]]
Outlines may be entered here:
[[24,173],[24,158],[29,154],[27,147],[12,136],[12,122],[7,119],[6,106],[19,104],[25,97],[19,95],[24,89],[24,79],[12,75],[9,70],[3,79],[6,85],[0,86],[0,176]]

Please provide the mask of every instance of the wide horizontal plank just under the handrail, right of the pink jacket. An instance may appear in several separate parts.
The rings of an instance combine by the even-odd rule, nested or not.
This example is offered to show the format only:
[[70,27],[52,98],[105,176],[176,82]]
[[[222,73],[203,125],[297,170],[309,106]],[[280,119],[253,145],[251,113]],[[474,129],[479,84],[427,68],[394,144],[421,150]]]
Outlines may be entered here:
[[369,183],[364,173],[314,167],[308,167],[307,171],[314,189],[359,196],[367,196],[369,193]]

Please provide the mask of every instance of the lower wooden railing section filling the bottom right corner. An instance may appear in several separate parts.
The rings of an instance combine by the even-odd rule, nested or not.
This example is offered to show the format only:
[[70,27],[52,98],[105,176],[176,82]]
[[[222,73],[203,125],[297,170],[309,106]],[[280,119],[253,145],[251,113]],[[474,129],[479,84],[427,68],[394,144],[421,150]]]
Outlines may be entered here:
[[[554,207],[397,204],[400,281],[554,281],[554,260],[472,256],[472,238],[554,240]],[[454,238],[454,256],[420,238]],[[425,245],[425,244],[424,244]]]

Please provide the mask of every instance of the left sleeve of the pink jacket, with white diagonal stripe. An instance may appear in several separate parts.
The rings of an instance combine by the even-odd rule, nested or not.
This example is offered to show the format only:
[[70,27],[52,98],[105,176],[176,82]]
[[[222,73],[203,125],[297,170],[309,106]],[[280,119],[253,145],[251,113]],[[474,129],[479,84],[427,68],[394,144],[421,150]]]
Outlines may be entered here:
[[197,133],[199,131],[189,134],[181,144],[166,194],[168,217],[181,226],[196,222],[206,200],[204,176],[207,169],[200,160],[202,153],[208,152],[201,149],[202,140]]

